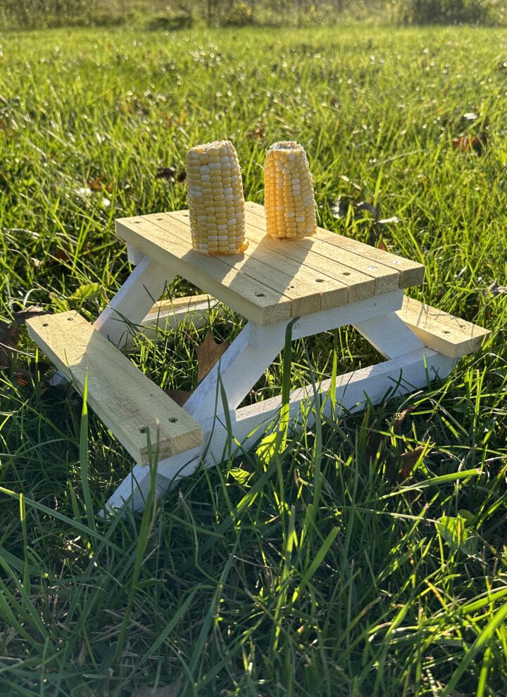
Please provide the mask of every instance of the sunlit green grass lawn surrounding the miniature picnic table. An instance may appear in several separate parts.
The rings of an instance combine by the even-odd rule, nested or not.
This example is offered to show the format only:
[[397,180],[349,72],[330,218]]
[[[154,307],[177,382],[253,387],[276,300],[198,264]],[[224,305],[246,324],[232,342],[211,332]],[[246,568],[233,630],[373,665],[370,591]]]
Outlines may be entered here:
[[[445,383],[318,419],[106,521],[91,508],[132,461],[23,335],[0,371],[2,697],[504,696],[507,309],[487,288],[507,277],[507,32],[61,30],[0,48],[5,320],[35,304],[94,319],[130,271],[115,217],[183,207],[157,167],[228,136],[259,202],[266,146],[303,143],[324,226],[378,243],[328,197],[380,203],[401,221],[384,243],[427,267],[411,293],[492,330]],[[453,147],[467,129],[482,155]],[[211,324],[218,340],[240,328]],[[161,333],[132,360],[192,389],[206,331]],[[296,342],[292,385],[329,376],[335,352],[339,372],[377,359],[349,328]],[[280,392],[283,368],[250,399]],[[387,476],[390,453],[427,442],[411,478]]]

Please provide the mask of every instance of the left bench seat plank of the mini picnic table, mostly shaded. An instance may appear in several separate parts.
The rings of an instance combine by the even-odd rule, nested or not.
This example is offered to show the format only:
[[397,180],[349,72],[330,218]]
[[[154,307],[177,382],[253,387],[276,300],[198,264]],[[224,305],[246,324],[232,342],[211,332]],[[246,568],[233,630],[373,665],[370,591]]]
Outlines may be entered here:
[[82,391],[88,376],[88,402],[120,443],[147,463],[149,430],[163,459],[202,442],[201,428],[186,411],[149,380],[77,312],[34,316],[30,336],[57,368]]

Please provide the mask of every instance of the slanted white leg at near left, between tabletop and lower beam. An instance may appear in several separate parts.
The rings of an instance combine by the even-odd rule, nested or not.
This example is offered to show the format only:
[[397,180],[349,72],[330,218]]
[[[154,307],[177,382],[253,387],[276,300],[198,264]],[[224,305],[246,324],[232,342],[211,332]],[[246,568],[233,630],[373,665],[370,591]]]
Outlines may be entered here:
[[[282,350],[282,342],[252,346],[249,335],[247,325],[185,403],[185,411],[197,421],[213,416],[215,411],[223,413],[224,406],[229,410],[236,409]],[[227,395],[227,405],[223,404],[220,394],[219,376]]]

